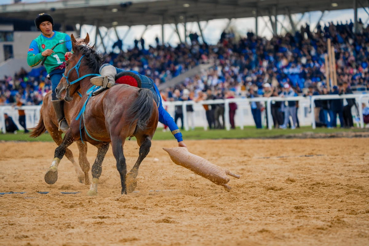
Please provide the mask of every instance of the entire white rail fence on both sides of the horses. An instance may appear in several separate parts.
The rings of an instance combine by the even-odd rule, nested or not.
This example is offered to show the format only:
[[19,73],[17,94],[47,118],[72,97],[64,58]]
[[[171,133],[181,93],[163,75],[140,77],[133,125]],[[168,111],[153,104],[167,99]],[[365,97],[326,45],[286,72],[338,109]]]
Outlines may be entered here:
[[[364,128],[363,114],[361,104],[364,98],[369,98],[369,94],[346,94],[346,95],[318,95],[312,97],[256,97],[256,98],[229,98],[229,99],[217,99],[217,100],[204,100],[198,103],[194,101],[163,101],[163,107],[169,112],[170,115],[174,118],[175,116],[175,106],[182,106],[183,112],[183,127],[186,131],[189,131],[189,117],[187,113],[187,105],[192,105],[194,110],[195,117],[195,127],[204,127],[204,130],[208,128],[208,122],[206,119],[206,111],[203,105],[215,105],[215,104],[224,104],[224,122],[225,129],[228,131],[231,129],[230,118],[229,118],[229,104],[236,103],[237,110],[235,114],[235,125],[244,129],[244,126],[255,125],[254,118],[251,113],[251,102],[260,102],[266,106],[267,115],[265,115],[265,110],[262,112],[262,122],[263,125],[266,125],[266,119],[268,119],[268,128],[273,128],[273,118],[271,113],[271,104],[272,101],[298,101],[299,102],[299,110],[298,110],[298,118],[301,126],[312,125],[313,129],[315,129],[315,100],[332,100],[332,99],[344,99],[344,98],[355,98],[358,103],[359,110],[359,125],[361,128]],[[367,103],[367,101],[366,101]],[[18,109],[25,110],[26,115],[26,125],[27,128],[32,128],[37,125],[40,118],[40,110],[41,105],[37,106],[21,106],[21,107],[13,107],[13,106],[0,106],[0,127],[2,128],[2,132],[5,133],[5,118],[4,113],[7,113],[10,117],[13,118],[13,121],[18,126],[18,128],[23,129],[18,122]],[[311,109],[311,110],[310,110]],[[177,123],[177,122],[176,122]],[[159,123],[160,124],[160,123]],[[180,124],[179,124],[180,125]],[[162,125],[159,125],[162,126]]]

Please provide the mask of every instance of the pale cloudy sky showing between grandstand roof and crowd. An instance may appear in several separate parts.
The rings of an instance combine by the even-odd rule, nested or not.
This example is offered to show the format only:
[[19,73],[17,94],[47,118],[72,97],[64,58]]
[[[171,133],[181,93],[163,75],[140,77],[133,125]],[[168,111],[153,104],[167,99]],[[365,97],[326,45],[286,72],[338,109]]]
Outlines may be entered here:
[[[0,0],[1,4],[10,4],[14,0]],[[44,0],[45,1],[45,0]],[[46,1],[55,1],[55,0],[46,0]],[[23,3],[36,3],[40,2],[40,0],[22,0]],[[369,8],[367,8],[369,12]],[[301,20],[297,24],[297,28],[300,28],[301,25],[305,25],[306,23],[310,24],[310,28],[313,29],[317,25],[317,21],[319,20],[321,16],[320,11],[314,11],[305,13],[302,17],[302,14],[295,14],[292,16],[294,23],[296,24],[299,20]],[[302,17],[302,19],[301,19]],[[362,21],[369,22],[368,20],[368,14],[365,12],[363,8],[358,8],[358,17],[362,18]],[[263,21],[263,19],[265,21]],[[278,23],[277,29],[278,34],[282,32],[282,34],[286,33],[286,30],[290,30],[290,24],[289,20],[284,15],[278,15],[277,19],[279,22],[283,24],[283,27],[280,23]],[[348,10],[337,10],[337,11],[326,11],[323,15],[323,18],[320,21],[321,25],[324,25],[324,23],[328,23],[333,21],[334,23],[339,22],[346,22],[350,21],[350,19],[354,19],[354,10],[348,9]],[[227,19],[218,19],[218,20],[211,20],[208,22],[201,21],[200,25],[203,29],[203,35],[204,39],[208,44],[216,44],[220,38],[221,32],[224,30],[225,27],[227,27],[229,20]],[[265,27],[265,23],[267,23],[267,27]],[[255,18],[239,18],[239,19],[232,19],[231,20],[231,27],[233,27],[237,32],[242,36],[246,35],[247,32],[255,32]],[[169,43],[170,45],[174,46],[179,43],[179,38],[177,34],[174,32],[175,26],[174,24],[166,24],[164,25],[164,39],[165,43]],[[178,29],[181,35],[181,39],[184,39],[184,27],[183,24],[178,25]],[[142,33],[145,30],[144,25],[138,25],[138,26],[132,26],[128,35],[124,39],[124,49],[132,48],[134,46],[134,40],[139,39],[142,36]],[[266,38],[272,37],[272,28],[269,22],[269,17],[259,17],[258,18],[258,32],[259,36],[263,36]],[[100,32],[101,35],[104,37],[106,35],[107,28],[101,27]],[[128,31],[127,26],[118,26],[117,27],[118,35],[122,39],[126,32]],[[187,23],[187,32],[197,32],[197,34],[200,35],[199,27],[196,22],[188,22]],[[90,25],[83,25],[82,26],[82,32],[81,36],[84,37],[86,33],[89,33],[90,37],[92,38],[92,41],[94,42],[95,37],[95,28]],[[147,28],[147,30],[144,32],[143,38],[145,39],[145,46],[146,48],[148,45],[155,45],[155,37],[158,37],[161,42],[161,25],[152,25]],[[201,39],[201,38],[200,38]],[[111,46],[113,43],[117,41],[117,36],[115,35],[115,32],[113,29],[109,30],[108,35],[104,38],[104,44],[106,44],[107,51],[111,51]],[[187,38],[187,41],[189,39]],[[97,38],[97,44],[101,44],[100,38]],[[99,45],[99,49],[103,50],[103,46]]]

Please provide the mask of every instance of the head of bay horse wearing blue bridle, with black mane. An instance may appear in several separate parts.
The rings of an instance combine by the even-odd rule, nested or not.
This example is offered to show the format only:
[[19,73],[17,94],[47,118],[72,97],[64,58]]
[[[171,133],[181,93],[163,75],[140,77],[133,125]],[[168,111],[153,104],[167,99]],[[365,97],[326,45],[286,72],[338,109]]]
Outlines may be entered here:
[[70,39],[73,55],[65,62],[64,75],[55,89],[56,97],[68,102],[72,101],[73,95],[82,87],[81,83],[84,80],[88,80],[90,84],[90,77],[75,81],[84,75],[98,73],[102,62],[99,53],[93,49],[94,46],[88,45],[90,41],[88,34],[85,39],[79,40],[76,40],[72,34]]

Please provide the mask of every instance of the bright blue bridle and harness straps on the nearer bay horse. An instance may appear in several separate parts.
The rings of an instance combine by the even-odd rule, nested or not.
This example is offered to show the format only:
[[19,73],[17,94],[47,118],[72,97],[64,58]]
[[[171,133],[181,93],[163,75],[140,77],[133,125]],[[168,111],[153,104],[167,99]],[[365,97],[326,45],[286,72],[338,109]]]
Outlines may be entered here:
[[[85,56],[85,55],[83,55],[83,56]],[[66,79],[66,81],[67,81],[67,83],[68,83],[68,86],[70,86],[70,85],[72,85],[72,84],[75,84],[75,83],[79,82],[80,80],[85,79],[85,78],[86,78],[86,77],[88,77],[88,76],[100,76],[100,74],[98,74],[98,73],[89,73],[89,74],[87,74],[87,75],[84,75],[84,76],[82,76],[82,77],[79,77],[79,67],[80,67],[80,65],[81,65],[81,63],[82,63],[82,58],[83,58],[83,56],[81,56],[81,58],[78,60],[77,64],[76,64],[74,67],[72,67],[72,68],[68,71],[67,76],[65,76],[65,75],[64,75],[64,73],[63,73],[63,77],[65,77],[65,79]],[[72,71],[72,70],[73,70],[73,68],[74,68],[74,69],[76,70],[76,72],[77,72],[78,79],[76,79],[76,80],[74,80],[74,81],[72,81],[72,82],[69,82],[69,80],[68,80],[69,73],[70,73],[70,71]],[[87,104],[87,101],[89,101],[90,97],[92,96],[93,91],[95,91],[95,90],[97,90],[97,89],[99,89],[99,86],[92,86],[92,87],[87,91],[87,94],[89,94],[89,93],[90,93],[90,94],[89,94],[89,97],[87,97],[87,100],[85,101],[85,104],[83,104],[83,107],[82,107],[81,111],[79,112],[79,114],[78,114],[78,116],[77,116],[77,118],[76,118],[76,120],[78,120],[78,119],[79,119],[79,117],[81,117],[81,115],[83,115],[83,116],[81,117],[81,119],[79,120],[79,133],[80,133],[80,135],[81,135],[81,141],[82,141],[82,143],[85,143],[85,142],[83,142],[83,140],[82,140],[81,121],[82,121],[82,118],[83,118],[83,125],[85,125],[85,114],[84,114],[84,112],[85,112],[85,110],[86,110],[86,104]],[[80,97],[82,97],[82,95],[81,95],[81,93],[79,93],[79,91],[77,91],[77,94],[78,94]],[[85,131],[86,131],[87,135],[88,135],[91,139],[93,139],[93,140],[95,140],[95,141],[98,141],[98,142],[101,142],[100,140],[97,140],[97,139],[93,138],[93,137],[92,137],[92,136],[87,132],[86,127],[85,127]]]

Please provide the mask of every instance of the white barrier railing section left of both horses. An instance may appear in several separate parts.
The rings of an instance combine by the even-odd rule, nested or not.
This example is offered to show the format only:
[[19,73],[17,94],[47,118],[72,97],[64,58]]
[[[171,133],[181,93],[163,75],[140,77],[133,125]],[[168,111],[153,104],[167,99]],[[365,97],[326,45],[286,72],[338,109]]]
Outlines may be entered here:
[[18,122],[18,110],[24,110],[26,115],[26,126],[27,128],[35,127],[38,124],[40,119],[40,110],[41,105],[30,105],[30,106],[0,106],[0,124],[2,128],[2,132],[6,133],[5,129],[5,117],[4,113],[7,113],[10,117],[13,118],[14,123],[18,128],[23,128]]

